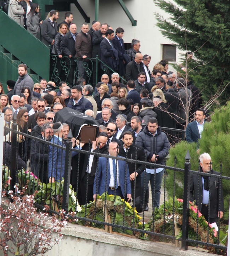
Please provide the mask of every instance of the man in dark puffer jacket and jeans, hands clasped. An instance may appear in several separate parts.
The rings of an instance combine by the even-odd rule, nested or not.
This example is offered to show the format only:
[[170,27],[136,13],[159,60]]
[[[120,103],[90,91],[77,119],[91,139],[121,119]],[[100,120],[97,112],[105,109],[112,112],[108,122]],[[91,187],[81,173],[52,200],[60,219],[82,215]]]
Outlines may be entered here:
[[[140,132],[136,138],[137,145],[143,147],[147,151],[147,161],[150,163],[164,164],[164,159],[168,155],[168,150],[170,144],[168,142],[167,136],[165,133],[161,132],[160,127],[158,127],[158,122],[155,118],[150,118],[148,125],[144,128],[143,132]],[[149,186],[149,181],[152,191],[152,201],[153,209],[154,207],[160,206],[160,197],[161,197],[161,182],[164,174],[163,168],[154,168],[152,166],[146,166],[146,179],[145,179],[145,189]],[[154,175],[155,177],[155,187],[154,187]],[[142,180],[142,205],[144,197],[144,178],[145,173],[141,174]],[[154,190],[155,190],[155,200],[154,199]],[[144,207],[145,209],[148,206]]]

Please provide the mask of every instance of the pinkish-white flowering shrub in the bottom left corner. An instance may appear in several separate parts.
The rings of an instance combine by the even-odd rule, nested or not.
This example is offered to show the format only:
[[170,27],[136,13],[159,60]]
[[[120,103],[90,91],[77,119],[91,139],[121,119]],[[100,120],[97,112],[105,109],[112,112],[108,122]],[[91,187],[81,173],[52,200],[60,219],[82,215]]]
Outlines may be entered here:
[[[62,221],[46,212],[37,212],[34,195],[13,197],[12,203],[2,201],[0,206],[0,249],[4,256],[10,252],[17,256],[44,255],[62,238],[61,229],[67,224],[64,211],[59,212]],[[5,207],[4,207],[5,206]],[[48,210],[45,206],[44,210]]]

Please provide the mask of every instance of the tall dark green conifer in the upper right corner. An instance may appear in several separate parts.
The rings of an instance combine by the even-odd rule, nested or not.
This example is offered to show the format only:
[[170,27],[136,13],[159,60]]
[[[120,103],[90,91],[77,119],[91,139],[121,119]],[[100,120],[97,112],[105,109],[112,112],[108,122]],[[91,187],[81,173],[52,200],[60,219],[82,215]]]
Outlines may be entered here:
[[[230,81],[230,2],[222,0],[154,0],[155,5],[170,15],[164,19],[156,13],[161,33],[183,51],[195,52],[199,61],[190,78],[212,98],[219,86]],[[200,66],[201,65],[201,66]],[[219,98],[229,98],[230,86]]]

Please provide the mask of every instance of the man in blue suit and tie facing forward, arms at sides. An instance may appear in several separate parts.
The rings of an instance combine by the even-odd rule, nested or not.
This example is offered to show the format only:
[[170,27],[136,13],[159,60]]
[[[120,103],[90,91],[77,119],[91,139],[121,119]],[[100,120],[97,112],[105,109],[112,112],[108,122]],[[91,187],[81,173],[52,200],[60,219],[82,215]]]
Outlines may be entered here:
[[[109,155],[117,156],[116,142],[109,143]],[[107,188],[106,191],[109,195],[115,194],[119,195],[121,198],[125,198],[127,195],[127,201],[131,199],[131,184],[130,184],[130,174],[128,170],[128,165],[125,161],[118,160],[116,164],[115,159],[108,158],[108,169],[107,158],[100,157],[97,173],[94,179],[93,186],[93,199],[96,200],[96,195],[102,195],[105,192],[106,176],[107,176]],[[125,173],[126,171],[126,173]],[[116,176],[116,179],[114,177]],[[126,180],[126,195],[125,195],[125,180]],[[97,191],[96,191],[97,186]]]

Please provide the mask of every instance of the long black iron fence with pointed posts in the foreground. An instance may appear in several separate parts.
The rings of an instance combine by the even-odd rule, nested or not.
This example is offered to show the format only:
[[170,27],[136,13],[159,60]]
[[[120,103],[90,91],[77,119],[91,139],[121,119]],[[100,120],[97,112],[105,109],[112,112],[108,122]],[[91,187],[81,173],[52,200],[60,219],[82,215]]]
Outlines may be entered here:
[[[156,164],[156,161],[155,163],[147,161],[146,152],[142,155],[144,160],[139,160],[137,149],[134,151],[134,155],[128,158],[128,150],[126,157],[117,156],[117,153],[119,153],[118,148],[116,149],[116,154],[109,155],[107,144],[104,146],[106,150],[103,153],[101,153],[100,143],[97,145],[98,150],[91,150],[92,143],[90,141],[85,145],[79,141],[79,146],[73,148],[71,132],[66,141],[58,136],[56,138],[52,136],[51,141],[47,141],[44,138],[46,139],[47,136],[52,134],[43,133],[38,137],[33,137],[28,132],[19,131],[16,120],[13,120],[10,125],[6,125],[4,130],[3,181],[6,183],[4,189],[12,190],[15,194],[19,194],[18,192],[23,188],[26,189],[26,194],[33,194],[38,191],[35,197],[35,205],[41,210],[43,210],[44,205],[49,205],[50,213],[58,215],[58,210],[64,209],[69,217],[77,221],[78,224],[103,228],[110,233],[126,233],[142,239],[146,239],[146,234],[148,234],[152,240],[177,240],[181,242],[183,250],[187,250],[189,244],[226,249],[226,246],[220,243],[219,234],[216,244],[210,242],[209,233],[211,228],[208,225],[206,230],[207,240],[199,240],[199,229],[201,228],[199,211],[197,211],[197,218],[194,220],[197,224],[196,239],[189,237],[189,214],[191,211],[191,204],[189,203],[190,176],[198,175],[200,177],[201,175],[200,172],[191,170],[189,154],[186,155],[184,169],[180,169],[176,167],[176,158],[174,167],[166,166],[166,161],[162,164]],[[113,161],[113,159],[115,160],[114,176],[117,177],[117,172],[119,173],[120,188],[116,186],[119,185],[118,179],[114,180],[115,184],[110,188],[109,176],[112,174],[109,166],[111,166],[110,161]],[[92,170],[93,161],[94,166],[96,166],[96,173],[90,171],[90,168]],[[129,165],[132,165],[132,170],[128,168]],[[120,168],[123,168],[122,171]],[[162,187],[164,189],[160,207],[156,205],[157,194],[155,191],[156,183],[159,182],[156,175],[159,168],[163,169],[161,172],[163,174]],[[146,217],[147,212],[145,211],[143,211],[142,218],[138,215],[143,207],[145,193],[148,193],[146,192],[148,188],[148,182],[146,182],[148,170],[146,171],[146,169],[153,170],[153,176],[151,176],[150,181],[153,192],[150,219],[148,216]],[[140,176],[142,176],[144,183],[140,181],[139,170],[143,171]],[[166,193],[166,170],[174,172],[172,195],[167,195]],[[131,183],[130,175],[132,173],[134,173],[134,179]],[[182,199],[179,200],[175,197],[176,173],[184,173],[183,204],[181,203]],[[82,174],[86,176],[84,180],[84,196],[81,189]],[[220,175],[202,173],[202,176],[218,178],[220,180],[218,185],[220,190],[222,189],[221,181],[223,179],[230,180],[230,177],[222,176],[221,172]],[[10,182],[9,177],[11,177]],[[51,177],[54,178],[54,181],[52,181]],[[102,179],[104,179],[104,183],[101,182]],[[201,177],[199,179],[201,180]],[[209,178],[209,188],[211,188],[210,180],[211,178]],[[121,186],[123,186],[122,189]],[[138,186],[142,187],[142,203],[140,205],[138,205],[139,201],[136,197]],[[110,195],[107,194],[108,187],[110,192],[113,190]],[[96,200],[90,200],[94,194],[96,195]],[[131,194],[132,206],[126,202],[129,196],[127,194]],[[219,193],[219,201],[220,196],[221,194]],[[199,201],[197,204],[199,205]],[[219,214],[220,210],[219,207]],[[209,213],[210,208],[208,209],[208,216]],[[178,227],[182,227],[182,234],[179,236],[176,232]],[[218,227],[220,228],[219,218]]]

